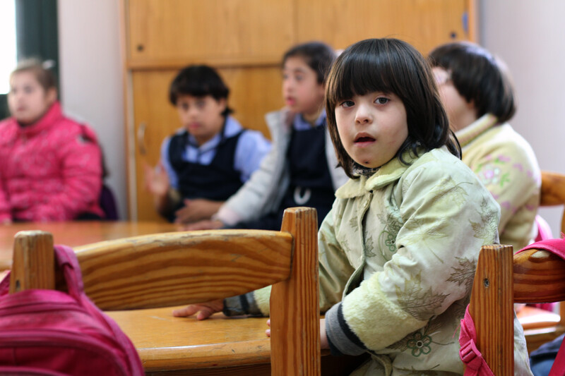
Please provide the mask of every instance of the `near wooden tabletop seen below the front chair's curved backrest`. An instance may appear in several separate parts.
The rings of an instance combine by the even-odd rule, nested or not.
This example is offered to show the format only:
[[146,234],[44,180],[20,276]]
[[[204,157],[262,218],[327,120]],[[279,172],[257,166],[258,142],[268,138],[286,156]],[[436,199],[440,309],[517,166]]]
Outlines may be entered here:
[[[270,375],[265,317],[173,317],[174,308],[107,312],[136,346],[146,375]],[[220,345],[219,345],[220,344]],[[349,375],[366,357],[322,351],[322,375]]]

